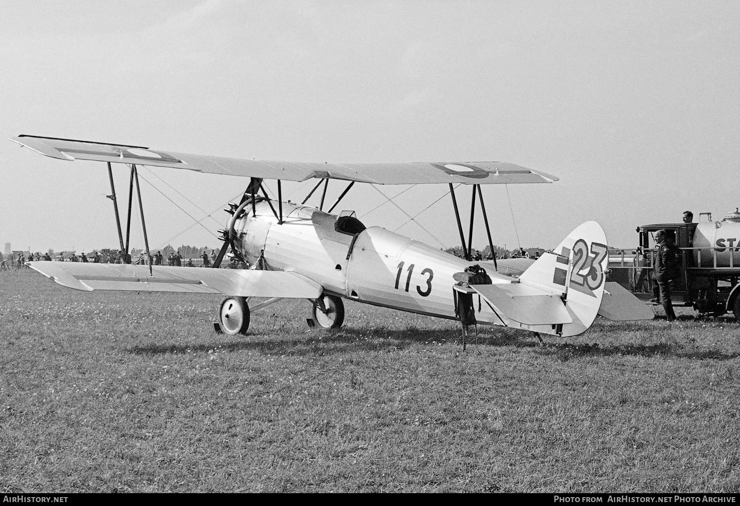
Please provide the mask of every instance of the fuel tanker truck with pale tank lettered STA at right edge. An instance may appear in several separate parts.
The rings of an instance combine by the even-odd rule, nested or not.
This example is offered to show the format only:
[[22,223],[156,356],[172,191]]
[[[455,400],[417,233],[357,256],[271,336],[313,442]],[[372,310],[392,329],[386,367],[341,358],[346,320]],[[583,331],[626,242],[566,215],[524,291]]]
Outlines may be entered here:
[[740,209],[719,221],[703,212],[699,223],[637,227],[636,249],[610,249],[607,279],[641,300],[653,299],[653,266],[658,246],[655,234],[661,229],[678,246],[679,276],[672,283],[673,306],[690,307],[713,316],[732,312],[740,320]]

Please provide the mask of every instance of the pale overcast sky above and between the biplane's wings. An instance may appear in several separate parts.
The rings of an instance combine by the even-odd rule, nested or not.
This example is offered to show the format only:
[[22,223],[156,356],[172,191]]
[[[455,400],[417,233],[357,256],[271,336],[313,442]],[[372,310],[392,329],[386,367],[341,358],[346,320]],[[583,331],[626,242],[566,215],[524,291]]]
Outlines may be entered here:
[[[558,176],[508,186],[511,210],[505,186],[484,187],[494,243],[509,249],[554,247],[586,220],[610,245],[636,246],[637,225],[740,205],[739,2],[7,1],[0,47],[3,138],[278,161],[508,161]],[[248,180],[154,170],[141,175],[190,215],[216,212],[178,235],[194,220],[142,181],[150,246],[220,245],[209,231]],[[114,173],[125,208],[127,168]],[[0,175],[0,243],[118,244],[104,163],[2,141]],[[286,183],[286,198],[311,186]],[[330,197],[343,186],[330,183]],[[414,215],[445,192],[419,185],[397,202]],[[459,190],[465,208],[469,193]],[[340,209],[391,230],[407,220],[391,204],[365,215],[380,203],[355,185]],[[398,232],[459,243],[449,197],[417,219],[436,239],[414,223]]]

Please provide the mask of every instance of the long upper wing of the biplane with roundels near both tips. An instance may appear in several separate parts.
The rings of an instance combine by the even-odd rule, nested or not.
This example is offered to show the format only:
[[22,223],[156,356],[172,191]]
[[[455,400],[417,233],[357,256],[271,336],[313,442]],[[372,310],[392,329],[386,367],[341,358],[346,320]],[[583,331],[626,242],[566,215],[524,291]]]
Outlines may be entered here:
[[303,163],[188,155],[155,151],[144,146],[73,141],[36,135],[19,135],[9,140],[27,146],[41,155],[61,160],[138,163],[283,181],[306,181],[310,178],[378,184],[512,184],[558,181],[553,175],[506,162]]

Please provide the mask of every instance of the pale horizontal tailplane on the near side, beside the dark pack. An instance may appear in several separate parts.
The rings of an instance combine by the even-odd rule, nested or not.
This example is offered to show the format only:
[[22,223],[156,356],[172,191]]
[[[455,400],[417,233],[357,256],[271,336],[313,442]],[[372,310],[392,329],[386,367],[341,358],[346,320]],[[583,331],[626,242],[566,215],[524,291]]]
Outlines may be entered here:
[[558,325],[571,323],[559,295],[521,283],[472,285],[497,313],[524,325]]

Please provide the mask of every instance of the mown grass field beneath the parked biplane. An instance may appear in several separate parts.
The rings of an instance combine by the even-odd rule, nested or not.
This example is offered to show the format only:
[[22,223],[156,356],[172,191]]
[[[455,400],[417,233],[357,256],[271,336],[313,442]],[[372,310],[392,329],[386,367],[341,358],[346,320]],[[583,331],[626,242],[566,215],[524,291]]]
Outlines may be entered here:
[[731,317],[463,352],[349,301],[340,331],[298,300],[224,337],[220,301],[0,272],[0,491],[740,490]]

